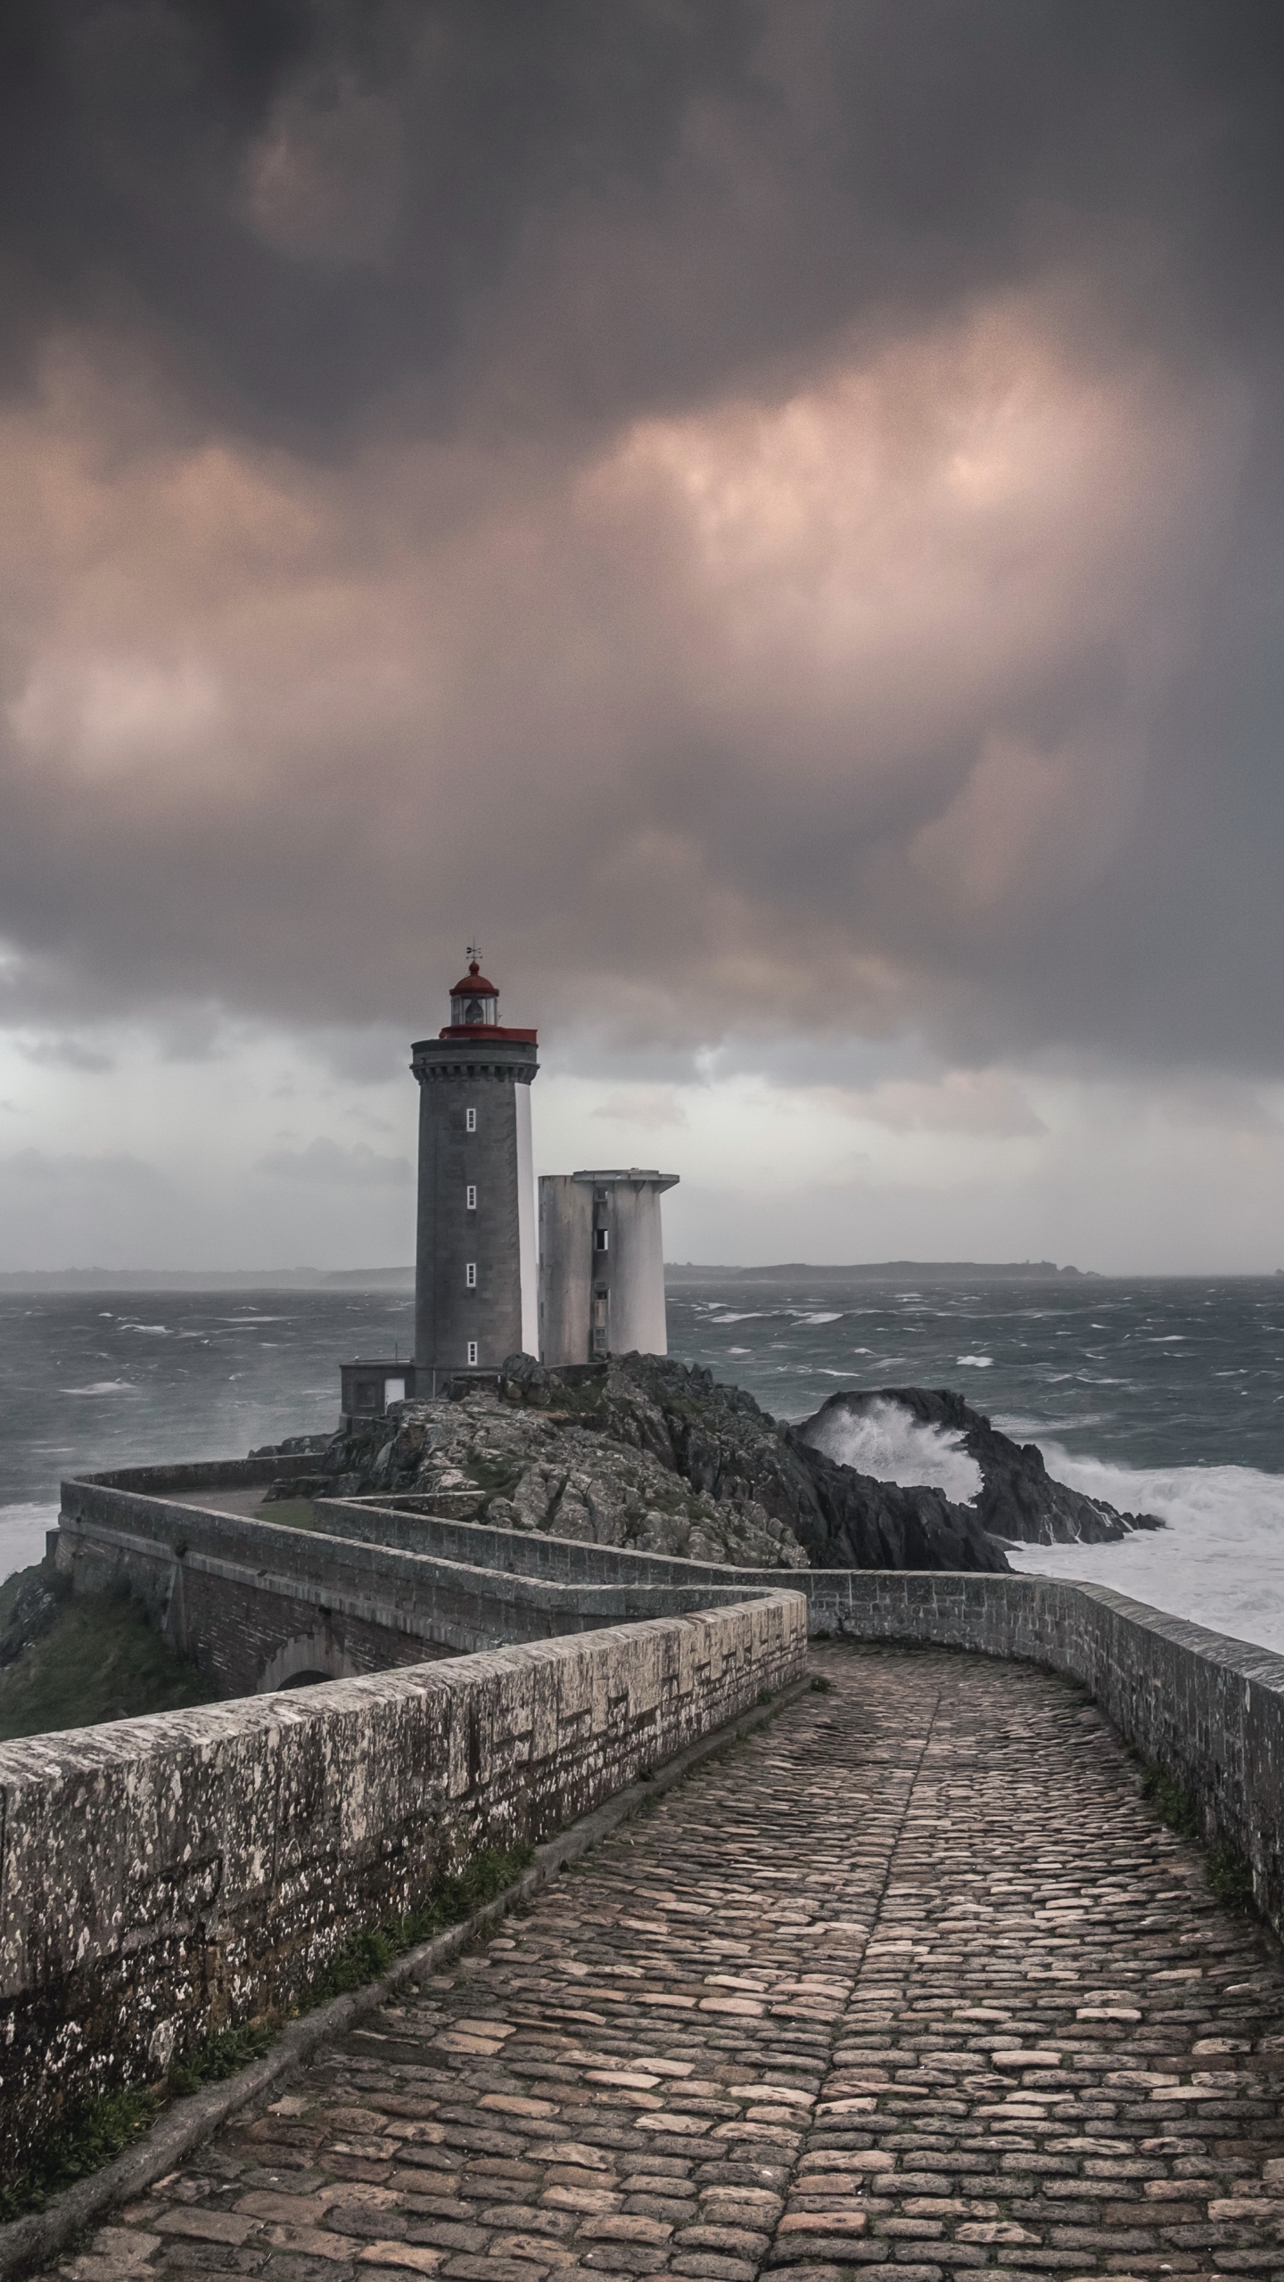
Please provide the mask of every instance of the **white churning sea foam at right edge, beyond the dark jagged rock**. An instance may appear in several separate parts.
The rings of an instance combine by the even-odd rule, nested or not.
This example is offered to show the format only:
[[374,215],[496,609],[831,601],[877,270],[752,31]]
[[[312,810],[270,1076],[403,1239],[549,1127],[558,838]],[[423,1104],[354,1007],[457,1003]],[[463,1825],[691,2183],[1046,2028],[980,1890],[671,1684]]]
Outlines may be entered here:
[[1049,1474],[1126,1513],[1158,1513],[1120,1545],[1024,1545],[1012,1568],[1108,1584],[1170,1616],[1284,1652],[1284,1474],[1252,1465],[1106,1465],[1040,1442]]

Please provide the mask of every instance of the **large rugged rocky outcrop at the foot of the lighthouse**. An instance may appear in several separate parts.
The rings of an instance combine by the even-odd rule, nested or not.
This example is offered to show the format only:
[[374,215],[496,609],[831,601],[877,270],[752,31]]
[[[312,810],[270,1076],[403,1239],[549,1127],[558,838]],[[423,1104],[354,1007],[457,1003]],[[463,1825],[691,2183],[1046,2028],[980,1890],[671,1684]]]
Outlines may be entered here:
[[457,1397],[336,1435],[279,1492],[414,1492],[503,1529],[738,1568],[1008,1568],[939,1490],[854,1474],[752,1394],[660,1356],[567,1371],[514,1356]]

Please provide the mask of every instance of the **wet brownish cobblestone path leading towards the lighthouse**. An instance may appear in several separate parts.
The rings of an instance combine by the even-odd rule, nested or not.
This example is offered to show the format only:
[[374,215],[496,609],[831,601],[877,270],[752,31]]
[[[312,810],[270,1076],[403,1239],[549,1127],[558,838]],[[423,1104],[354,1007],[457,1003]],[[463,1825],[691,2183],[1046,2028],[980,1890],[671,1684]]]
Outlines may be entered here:
[[1074,1689],[816,1668],[62,2275],[1284,2277],[1275,1942]]

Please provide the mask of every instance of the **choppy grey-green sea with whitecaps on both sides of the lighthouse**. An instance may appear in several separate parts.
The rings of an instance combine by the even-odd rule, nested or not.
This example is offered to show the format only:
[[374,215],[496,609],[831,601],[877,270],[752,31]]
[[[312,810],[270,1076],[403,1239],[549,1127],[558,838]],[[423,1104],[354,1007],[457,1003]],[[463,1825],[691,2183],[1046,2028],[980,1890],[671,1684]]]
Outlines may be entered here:
[[[62,1476],[242,1456],[338,1422],[338,1362],[409,1353],[409,1296],[75,1292],[0,1298],[0,1575],[37,1561]],[[838,1387],[955,1387],[1053,1474],[1158,1513],[1122,1545],[1028,1547],[1024,1570],[1097,1579],[1284,1650],[1284,1276],[838,1280],[669,1292],[669,1346],[800,1419]],[[852,1463],[966,1488],[966,1458],[884,1419]]]

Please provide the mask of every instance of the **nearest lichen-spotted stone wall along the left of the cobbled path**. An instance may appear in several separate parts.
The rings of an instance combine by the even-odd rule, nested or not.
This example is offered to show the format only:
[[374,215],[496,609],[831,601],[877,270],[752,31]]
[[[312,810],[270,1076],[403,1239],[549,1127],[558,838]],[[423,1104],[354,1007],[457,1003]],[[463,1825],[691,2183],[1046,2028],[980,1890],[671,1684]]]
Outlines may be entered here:
[[795,1680],[797,1593],[0,1746],[0,2168]]

